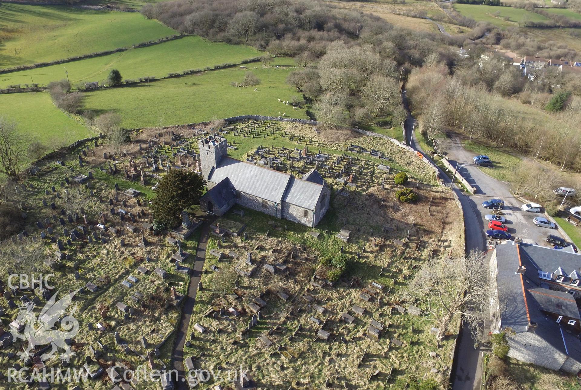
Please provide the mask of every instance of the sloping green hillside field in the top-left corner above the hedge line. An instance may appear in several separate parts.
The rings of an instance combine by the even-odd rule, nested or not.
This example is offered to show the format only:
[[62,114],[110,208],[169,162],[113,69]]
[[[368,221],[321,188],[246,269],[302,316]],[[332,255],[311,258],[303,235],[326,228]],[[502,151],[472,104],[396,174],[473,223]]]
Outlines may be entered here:
[[139,13],[2,3],[0,67],[65,59],[173,34]]

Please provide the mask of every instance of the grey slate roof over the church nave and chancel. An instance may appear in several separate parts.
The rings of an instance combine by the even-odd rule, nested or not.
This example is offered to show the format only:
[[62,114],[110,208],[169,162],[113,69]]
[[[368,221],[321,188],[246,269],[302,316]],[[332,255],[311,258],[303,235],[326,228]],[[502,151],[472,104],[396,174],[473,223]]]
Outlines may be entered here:
[[[316,175],[312,177],[316,178]],[[309,210],[315,210],[323,189],[320,184],[230,157],[222,158],[208,180],[221,183],[226,178],[236,191],[278,204],[285,201]]]

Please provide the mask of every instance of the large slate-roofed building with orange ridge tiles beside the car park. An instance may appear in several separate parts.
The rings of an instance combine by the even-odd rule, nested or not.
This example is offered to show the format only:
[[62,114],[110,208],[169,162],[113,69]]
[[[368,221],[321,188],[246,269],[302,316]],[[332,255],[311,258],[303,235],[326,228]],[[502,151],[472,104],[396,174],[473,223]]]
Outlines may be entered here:
[[490,258],[492,333],[506,330],[508,356],[551,370],[581,370],[581,255],[524,243]]

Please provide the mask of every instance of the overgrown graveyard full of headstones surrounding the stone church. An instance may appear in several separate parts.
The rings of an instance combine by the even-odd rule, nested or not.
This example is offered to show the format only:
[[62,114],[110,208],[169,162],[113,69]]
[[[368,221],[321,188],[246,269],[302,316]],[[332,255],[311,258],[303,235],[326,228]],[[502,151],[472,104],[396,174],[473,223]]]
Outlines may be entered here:
[[[248,366],[259,388],[321,388],[327,381],[389,388],[412,376],[445,384],[454,336],[437,348],[433,319],[401,301],[400,291],[422,259],[463,251],[452,194],[389,140],[329,140],[312,125],[274,120],[141,129],[117,150],[96,136],[33,164],[5,194],[21,221],[10,227],[0,256],[3,272],[51,273],[54,287],[2,286],[2,331],[19,333],[21,308],[42,317],[58,291],[56,300],[73,295],[78,333],[67,339],[72,353],[60,348],[48,359],[42,349],[22,357],[21,339],[5,342],[2,370],[83,367],[85,386],[111,389],[120,374],[114,364],[171,367],[200,211],[184,210],[180,226],[157,231],[148,203],[171,169],[199,171],[197,141],[209,133],[227,138],[231,157],[298,177],[317,169],[331,189],[331,207],[316,228],[238,206],[210,218],[187,365]],[[394,196],[402,187],[393,183],[397,172],[409,176],[415,204]],[[10,388],[26,388],[20,385]]]

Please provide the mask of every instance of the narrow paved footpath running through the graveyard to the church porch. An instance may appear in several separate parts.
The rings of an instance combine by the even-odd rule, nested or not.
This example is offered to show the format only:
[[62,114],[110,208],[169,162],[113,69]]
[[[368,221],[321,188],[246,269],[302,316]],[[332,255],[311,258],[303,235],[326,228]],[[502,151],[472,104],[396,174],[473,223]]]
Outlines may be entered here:
[[214,222],[214,217],[205,219],[200,229],[200,240],[196,250],[196,259],[193,264],[192,278],[189,281],[188,296],[185,297],[184,306],[182,307],[182,317],[180,327],[175,334],[174,353],[172,356],[173,369],[178,372],[178,381],[175,388],[177,390],[188,389],[184,375],[184,345],[188,337],[189,320],[192,317],[193,305],[196,303],[196,293],[198,293],[198,283],[202,280],[202,269],[206,261],[206,247],[210,234],[210,225]]

